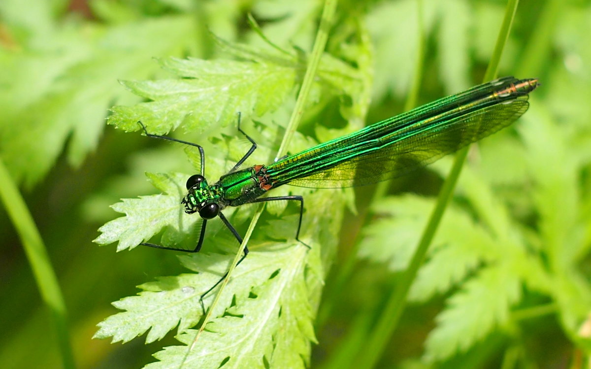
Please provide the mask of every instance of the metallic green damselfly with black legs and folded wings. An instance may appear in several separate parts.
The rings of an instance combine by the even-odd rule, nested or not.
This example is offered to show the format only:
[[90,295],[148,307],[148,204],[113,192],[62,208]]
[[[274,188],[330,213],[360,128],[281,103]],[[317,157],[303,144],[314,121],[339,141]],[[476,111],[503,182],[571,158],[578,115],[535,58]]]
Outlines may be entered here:
[[[238,119],[238,130],[251,142],[251,148],[228,174],[220,177],[213,185],[209,185],[202,176],[205,161],[200,145],[149,134],[142,125],[149,137],[176,141],[199,149],[200,174],[194,174],[187,180],[188,192],[181,203],[186,213],[198,212],[203,219],[199,240],[193,250],[147,242],[142,245],[197,252],[203,244],[207,221],[216,216],[222,219],[238,242],[242,242],[242,237],[223,215],[223,209],[277,200],[300,202],[296,232],[296,239],[300,241],[304,210],[302,196],[260,196],[281,185],[335,188],[368,185],[401,176],[507,127],[527,111],[528,93],[537,86],[537,79],[504,77],[493,80],[281,158],[275,163],[247,169],[239,167],[254,152],[256,143],[241,130]],[[248,248],[244,249],[240,261],[246,254]]]

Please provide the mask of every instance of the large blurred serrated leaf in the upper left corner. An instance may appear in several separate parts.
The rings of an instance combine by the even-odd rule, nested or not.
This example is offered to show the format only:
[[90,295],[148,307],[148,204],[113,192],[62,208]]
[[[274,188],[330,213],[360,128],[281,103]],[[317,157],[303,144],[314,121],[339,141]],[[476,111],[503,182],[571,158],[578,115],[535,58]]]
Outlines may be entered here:
[[[53,31],[41,49],[33,43],[24,53],[11,54],[10,84],[18,88],[0,90],[0,106],[9,107],[0,118],[0,154],[12,175],[29,187],[47,173],[68,138],[68,160],[82,163],[98,144],[109,103],[123,99],[116,76],[153,75],[157,65],[151,57],[179,54],[192,23],[179,16],[111,28],[92,25],[85,33],[72,26]],[[174,43],[155,37],[164,31]],[[159,41],[146,42],[152,38]],[[12,103],[15,99],[18,103]]]

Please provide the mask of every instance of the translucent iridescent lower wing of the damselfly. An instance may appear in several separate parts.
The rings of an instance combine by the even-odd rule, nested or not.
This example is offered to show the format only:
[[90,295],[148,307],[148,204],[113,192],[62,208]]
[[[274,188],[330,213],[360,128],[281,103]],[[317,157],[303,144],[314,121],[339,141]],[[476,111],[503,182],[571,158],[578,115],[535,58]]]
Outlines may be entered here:
[[313,163],[296,160],[271,177],[280,184],[313,188],[361,186],[398,177],[512,124],[527,111],[527,99],[522,95],[467,114],[418,121],[351,145],[341,141],[330,154],[322,150]]

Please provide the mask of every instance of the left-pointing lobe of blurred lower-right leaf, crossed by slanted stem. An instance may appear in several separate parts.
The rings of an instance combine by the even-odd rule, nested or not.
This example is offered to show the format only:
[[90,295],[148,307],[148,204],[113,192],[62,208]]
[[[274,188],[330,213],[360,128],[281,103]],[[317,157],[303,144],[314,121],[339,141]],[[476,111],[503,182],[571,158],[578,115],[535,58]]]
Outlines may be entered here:
[[[392,271],[404,270],[432,208],[432,199],[415,195],[381,200],[374,211],[388,216],[366,227],[359,255],[388,262]],[[411,287],[409,299],[424,301],[436,293],[446,292],[480,263],[496,260],[504,250],[496,242],[486,229],[451,206],[441,221],[429,259]]]

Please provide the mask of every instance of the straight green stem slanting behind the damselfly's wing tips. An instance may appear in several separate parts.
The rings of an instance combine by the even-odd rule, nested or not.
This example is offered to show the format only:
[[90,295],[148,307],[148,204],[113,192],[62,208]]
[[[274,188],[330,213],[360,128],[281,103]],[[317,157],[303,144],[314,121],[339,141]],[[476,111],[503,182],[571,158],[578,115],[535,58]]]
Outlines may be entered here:
[[[499,60],[501,60],[502,50],[505,46],[507,38],[509,37],[509,31],[511,30],[515,11],[517,10],[517,5],[518,0],[508,1],[505,17],[496,40],[491,62],[489,63],[483,78],[484,82],[487,80],[492,80],[496,75]],[[363,360],[358,368],[375,367],[375,364],[382,356],[382,352],[384,352],[384,348],[388,344],[392,332],[394,332],[394,329],[397,327],[398,321],[400,321],[400,316],[402,315],[402,311],[406,305],[407,295],[408,291],[410,290],[411,283],[413,283],[413,280],[417,275],[418,268],[423,264],[428,247],[430,246],[431,241],[433,241],[435,232],[439,227],[441,217],[443,216],[447,204],[452,198],[454,187],[456,186],[457,179],[459,178],[462,171],[468,151],[469,147],[466,147],[456,154],[452,170],[441,187],[441,191],[437,198],[437,203],[433,209],[433,212],[431,213],[429,221],[427,222],[427,226],[423,231],[423,235],[421,236],[418,247],[411,258],[407,270],[402,273],[397,288],[389,297],[388,302],[386,303],[385,308],[375,325],[375,328],[372,329],[372,334],[369,336],[366,349],[363,351]]]

